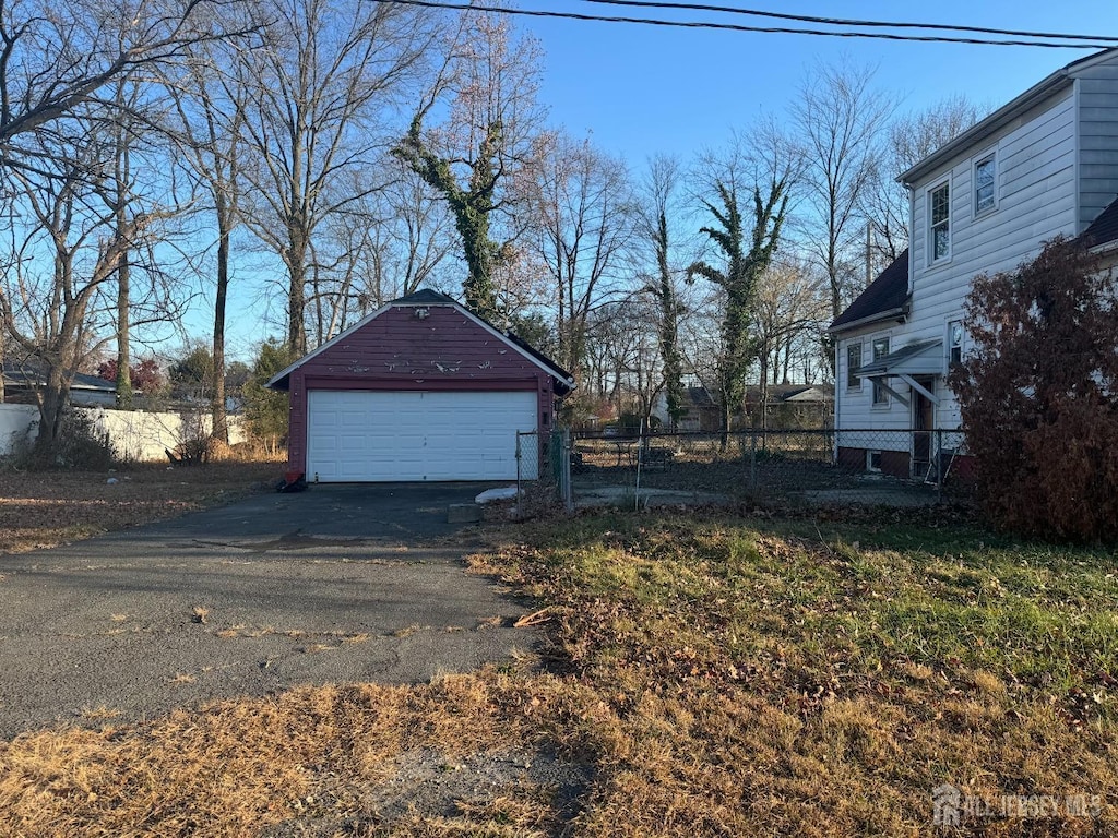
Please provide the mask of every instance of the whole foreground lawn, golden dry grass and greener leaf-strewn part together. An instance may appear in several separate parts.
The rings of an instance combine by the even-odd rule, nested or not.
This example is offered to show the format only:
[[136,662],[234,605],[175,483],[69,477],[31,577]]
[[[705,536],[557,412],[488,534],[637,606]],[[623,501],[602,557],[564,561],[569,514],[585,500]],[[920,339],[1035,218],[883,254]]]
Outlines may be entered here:
[[0,835],[247,836],[292,820],[314,836],[562,832],[552,790],[531,784],[449,816],[381,817],[378,790],[424,749],[448,771],[498,751],[593,764],[567,825],[587,836],[928,835],[944,782],[1103,806],[955,834],[1118,832],[1112,556],[815,526],[541,524],[473,561],[537,596],[551,672],[30,733],[0,745]]

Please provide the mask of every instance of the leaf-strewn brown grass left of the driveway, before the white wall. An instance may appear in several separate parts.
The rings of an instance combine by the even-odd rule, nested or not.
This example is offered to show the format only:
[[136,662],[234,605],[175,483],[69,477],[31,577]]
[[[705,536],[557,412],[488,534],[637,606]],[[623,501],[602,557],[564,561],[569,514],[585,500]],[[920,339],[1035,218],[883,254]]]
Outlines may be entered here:
[[0,469],[0,555],[228,503],[274,485],[282,468],[275,461],[222,461],[174,468],[149,464],[112,473]]

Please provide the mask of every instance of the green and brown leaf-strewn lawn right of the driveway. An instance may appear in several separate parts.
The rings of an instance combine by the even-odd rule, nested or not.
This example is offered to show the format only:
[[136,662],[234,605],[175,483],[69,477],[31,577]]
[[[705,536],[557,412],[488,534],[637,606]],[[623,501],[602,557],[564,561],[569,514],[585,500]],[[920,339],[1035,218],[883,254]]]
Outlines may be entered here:
[[[883,514],[587,516],[502,554],[563,613],[572,676],[625,720],[627,790],[600,791],[591,834],[916,834],[940,782],[1118,792],[1114,555]],[[655,790],[641,754],[665,763]],[[634,807],[679,821],[618,828]]]

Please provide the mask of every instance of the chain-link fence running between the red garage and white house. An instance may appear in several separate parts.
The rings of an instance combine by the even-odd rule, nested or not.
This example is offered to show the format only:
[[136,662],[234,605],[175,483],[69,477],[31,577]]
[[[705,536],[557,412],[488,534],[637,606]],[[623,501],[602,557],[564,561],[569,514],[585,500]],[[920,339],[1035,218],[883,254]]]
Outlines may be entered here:
[[635,506],[927,505],[965,492],[963,441],[958,429],[580,436],[569,442],[571,494],[578,504]]

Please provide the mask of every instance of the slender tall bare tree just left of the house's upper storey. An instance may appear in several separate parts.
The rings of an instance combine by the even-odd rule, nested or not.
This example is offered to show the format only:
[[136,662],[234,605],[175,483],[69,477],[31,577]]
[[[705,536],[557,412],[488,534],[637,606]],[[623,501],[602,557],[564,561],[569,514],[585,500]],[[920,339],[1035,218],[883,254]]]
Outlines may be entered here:
[[832,317],[842,313],[859,276],[862,198],[892,109],[873,87],[873,70],[849,64],[817,66],[793,105],[811,210],[805,240],[826,274]]

